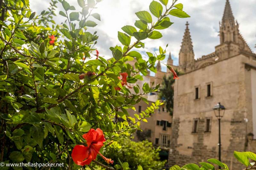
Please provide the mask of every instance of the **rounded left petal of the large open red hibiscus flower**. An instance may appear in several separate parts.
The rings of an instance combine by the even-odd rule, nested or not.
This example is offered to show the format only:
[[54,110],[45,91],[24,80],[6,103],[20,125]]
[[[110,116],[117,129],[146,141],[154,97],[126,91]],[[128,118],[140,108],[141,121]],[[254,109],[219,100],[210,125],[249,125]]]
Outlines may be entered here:
[[89,157],[89,147],[76,145],[72,150],[71,157],[77,165],[82,165],[84,159]]

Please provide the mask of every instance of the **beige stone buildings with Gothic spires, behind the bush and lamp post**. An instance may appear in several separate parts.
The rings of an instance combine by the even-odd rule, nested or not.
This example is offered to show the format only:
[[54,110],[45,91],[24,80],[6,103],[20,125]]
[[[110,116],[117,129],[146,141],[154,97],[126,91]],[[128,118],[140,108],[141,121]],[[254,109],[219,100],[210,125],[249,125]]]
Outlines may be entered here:
[[[184,73],[173,85],[173,117],[163,106],[148,123],[141,123],[141,129],[153,144],[169,152],[170,166],[218,158],[218,120],[212,107],[221,102],[226,107],[221,119],[222,161],[232,170],[242,169],[234,150],[256,151],[256,54],[239,32],[228,0],[220,22],[220,44],[214,52],[195,60],[188,26],[187,22],[179,66],[173,66],[171,55],[167,61]],[[171,75],[169,70],[161,70],[160,63],[156,68],[156,75],[146,76],[146,81],[157,84],[164,75]],[[156,93],[147,97],[151,102],[158,98]],[[140,102],[133,112],[147,106]]]

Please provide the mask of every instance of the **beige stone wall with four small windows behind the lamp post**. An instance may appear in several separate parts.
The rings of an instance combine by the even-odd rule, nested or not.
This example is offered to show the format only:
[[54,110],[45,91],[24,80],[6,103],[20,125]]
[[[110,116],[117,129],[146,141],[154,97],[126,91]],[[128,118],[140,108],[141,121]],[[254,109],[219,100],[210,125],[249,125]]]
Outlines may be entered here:
[[[249,78],[246,76],[246,62],[249,62],[248,57],[237,55],[184,74],[175,82],[170,165],[184,165],[218,157],[218,121],[212,107],[221,102],[226,107],[221,119],[222,161],[233,169],[239,168],[233,159],[233,151],[245,149],[244,118],[249,115],[250,107],[246,104],[248,85],[245,79]],[[206,97],[208,83],[212,85],[211,97]],[[198,100],[195,100],[196,86],[200,92]],[[206,117],[212,118],[211,132],[204,132]],[[198,119],[197,133],[192,133],[194,119]],[[252,121],[247,124],[252,125]]]

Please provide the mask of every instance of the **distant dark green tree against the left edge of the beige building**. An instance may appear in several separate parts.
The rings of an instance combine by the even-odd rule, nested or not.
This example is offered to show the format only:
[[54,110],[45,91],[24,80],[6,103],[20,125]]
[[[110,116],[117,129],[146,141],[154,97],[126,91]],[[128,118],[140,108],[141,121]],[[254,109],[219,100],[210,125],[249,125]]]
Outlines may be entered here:
[[[177,75],[180,75],[180,72],[178,70],[175,70]],[[163,82],[161,87],[159,88],[159,98],[165,101],[165,107],[167,112],[170,112],[170,115],[172,115],[173,112],[173,88],[172,84],[174,83],[173,77],[164,76]]]

